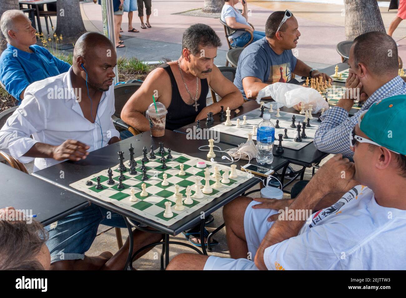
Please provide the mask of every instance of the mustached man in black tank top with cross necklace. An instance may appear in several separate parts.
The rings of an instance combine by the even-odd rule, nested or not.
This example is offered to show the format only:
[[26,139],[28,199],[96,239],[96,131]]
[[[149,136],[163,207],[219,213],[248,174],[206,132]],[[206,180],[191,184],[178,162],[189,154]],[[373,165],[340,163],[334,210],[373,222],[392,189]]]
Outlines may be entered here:
[[[244,100],[238,88],[214,65],[221,42],[216,32],[204,24],[194,24],[183,34],[182,53],[177,61],[164,63],[151,71],[141,87],[127,101],[121,118],[138,131],[148,131],[143,115],[155,101],[164,104],[166,129],[175,130],[207,117],[207,113],[236,109]],[[206,106],[209,87],[222,99]]]

